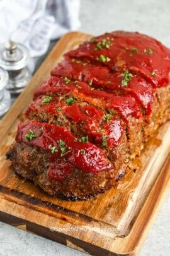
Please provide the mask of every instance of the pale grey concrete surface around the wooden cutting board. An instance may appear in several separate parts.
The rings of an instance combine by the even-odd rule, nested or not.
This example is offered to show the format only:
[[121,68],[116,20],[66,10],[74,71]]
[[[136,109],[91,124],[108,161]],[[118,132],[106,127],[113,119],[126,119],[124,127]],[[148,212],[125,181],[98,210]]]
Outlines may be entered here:
[[[94,35],[111,30],[139,31],[156,37],[170,47],[169,11],[169,0],[81,0],[81,31]],[[170,195],[166,197],[157,214],[140,250],[140,256],[170,255],[169,212]],[[80,256],[86,254],[0,222],[0,255]]]

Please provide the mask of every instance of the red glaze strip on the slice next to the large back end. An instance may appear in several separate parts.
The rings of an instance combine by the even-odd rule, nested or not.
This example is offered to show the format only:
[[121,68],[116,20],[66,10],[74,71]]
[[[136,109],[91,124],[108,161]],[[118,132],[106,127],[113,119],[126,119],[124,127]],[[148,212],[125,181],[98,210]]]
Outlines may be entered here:
[[87,83],[91,82],[91,87],[103,88],[115,94],[131,94],[139,104],[144,107],[146,114],[149,115],[151,113],[154,90],[150,83],[137,75],[133,75],[128,85],[122,87],[122,73],[111,73],[111,71],[104,66],[96,66],[89,63],[84,66],[82,61],[81,63],[76,63],[69,58],[59,63],[52,71],[52,75],[66,76],[70,79],[82,80]]

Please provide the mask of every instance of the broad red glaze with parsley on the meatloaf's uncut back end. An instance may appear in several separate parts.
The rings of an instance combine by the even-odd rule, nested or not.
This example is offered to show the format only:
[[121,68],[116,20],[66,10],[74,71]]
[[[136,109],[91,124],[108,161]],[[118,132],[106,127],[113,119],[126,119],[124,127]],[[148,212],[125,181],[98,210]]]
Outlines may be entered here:
[[[97,44],[107,38],[113,39],[108,40],[108,49],[104,46],[102,49],[96,49]],[[115,71],[135,71],[147,78],[154,87],[161,87],[169,82],[170,51],[156,39],[138,32],[113,32],[95,39],[96,42],[84,42],[76,50],[65,55],[71,58],[86,58]],[[108,61],[97,60],[101,54],[108,57]],[[156,76],[151,75],[153,71]]]

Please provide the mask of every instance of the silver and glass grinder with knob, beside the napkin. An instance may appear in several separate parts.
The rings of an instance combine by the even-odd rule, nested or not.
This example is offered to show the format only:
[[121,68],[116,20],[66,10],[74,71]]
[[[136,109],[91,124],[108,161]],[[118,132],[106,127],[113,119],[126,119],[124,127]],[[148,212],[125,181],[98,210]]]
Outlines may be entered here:
[[0,66],[8,71],[6,88],[12,95],[20,94],[31,78],[30,70],[26,67],[29,60],[29,51],[23,44],[11,40],[0,44]]

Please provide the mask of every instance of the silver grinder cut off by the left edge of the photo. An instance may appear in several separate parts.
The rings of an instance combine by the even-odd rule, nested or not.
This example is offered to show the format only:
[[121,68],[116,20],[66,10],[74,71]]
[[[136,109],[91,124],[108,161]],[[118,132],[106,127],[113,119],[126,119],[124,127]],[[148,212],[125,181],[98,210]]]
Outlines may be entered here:
[[0,116],[3,116],[11,105],[11,95],[10,92],[6,90],[8,79],[8,72],[0,67]]

